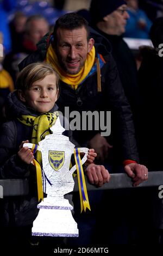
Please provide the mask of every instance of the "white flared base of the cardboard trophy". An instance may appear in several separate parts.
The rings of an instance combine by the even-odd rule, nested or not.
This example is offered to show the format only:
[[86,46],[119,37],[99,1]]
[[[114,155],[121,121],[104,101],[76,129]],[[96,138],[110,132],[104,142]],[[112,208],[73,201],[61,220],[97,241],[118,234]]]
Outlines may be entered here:
[[59,199],[58,202],[56,200],[50,202],[49,198],[45,199],[37,205],[40,211],[33,222],[32,235],[78,237],[77,223],[71,213],[73,207],[68,200]]

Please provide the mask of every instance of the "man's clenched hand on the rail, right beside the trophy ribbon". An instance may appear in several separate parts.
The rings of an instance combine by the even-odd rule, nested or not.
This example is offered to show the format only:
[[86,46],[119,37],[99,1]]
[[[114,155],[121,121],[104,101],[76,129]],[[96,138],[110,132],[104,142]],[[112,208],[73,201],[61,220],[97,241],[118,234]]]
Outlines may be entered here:
[[104,166],[98,166],[97,164],[91,163],[87,166],[85,172],[90,183],[95,184],[98,187],[101,187],[110,180],[110,174]]

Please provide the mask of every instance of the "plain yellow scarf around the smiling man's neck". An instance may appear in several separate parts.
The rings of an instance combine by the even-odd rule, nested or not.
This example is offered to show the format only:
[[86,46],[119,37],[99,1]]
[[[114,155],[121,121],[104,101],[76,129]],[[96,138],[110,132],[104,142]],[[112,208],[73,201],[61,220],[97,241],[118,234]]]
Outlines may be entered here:
[[64,70],[61,69],[57,55],[52,45],[48,47],[46,54],[46,62],[50,63],[55,70],[58,71],[61,81],[69,84],[73,89],[77,89],[78,85],[85,79],[92,69],[92,66],[95,62],[95,47],[92,47],[92,50],[87,53],[87,58],[83,68],[76,75],[67,74]]

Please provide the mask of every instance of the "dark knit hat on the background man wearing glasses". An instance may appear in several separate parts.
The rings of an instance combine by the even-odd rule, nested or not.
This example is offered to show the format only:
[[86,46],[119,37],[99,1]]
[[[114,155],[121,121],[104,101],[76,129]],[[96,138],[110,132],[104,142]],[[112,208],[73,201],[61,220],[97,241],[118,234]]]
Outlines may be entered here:
[[92,25],[96,25],[103,17],[115,11],[122,4],[127,4],[124,0],[92,0],[90,6],[90,18]]

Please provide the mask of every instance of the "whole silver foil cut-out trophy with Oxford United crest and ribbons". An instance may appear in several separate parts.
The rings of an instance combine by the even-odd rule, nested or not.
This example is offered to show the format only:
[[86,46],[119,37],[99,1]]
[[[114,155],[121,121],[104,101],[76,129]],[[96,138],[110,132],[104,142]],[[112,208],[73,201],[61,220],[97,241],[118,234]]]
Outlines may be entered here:
[[[75,148],[60,124],[59,117],[51,127],[52,134],[39,142],[39,145],[24,143],[23,147],[41,152],[42,170],[39,163],[34,161],[37,172],[37,191],[39,199],[43,199],[43,192],[47,194],[41,203],[40,209],[33,222],[32,235],[35,236],[78,236],[77,223],[74,221],[73,206],[64,195],[73,191],[73,173],[77,169],[81,210],[90,209],[87,197],[82,164],[87,160],[89,149]],[[80,159],[79,153],[85,153]],[[70,169],[71,156],[74,154],[76,164]],[[42,192],[43,191],[43,192]]]

